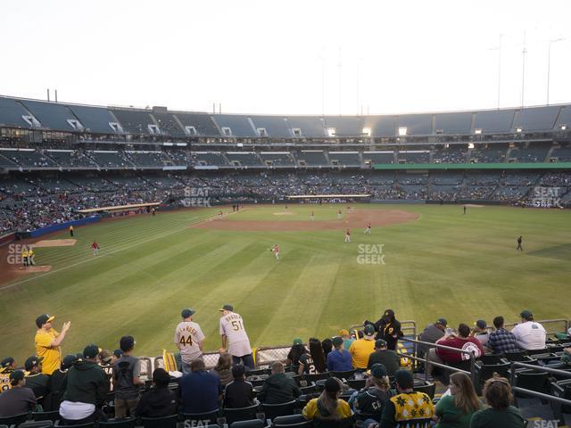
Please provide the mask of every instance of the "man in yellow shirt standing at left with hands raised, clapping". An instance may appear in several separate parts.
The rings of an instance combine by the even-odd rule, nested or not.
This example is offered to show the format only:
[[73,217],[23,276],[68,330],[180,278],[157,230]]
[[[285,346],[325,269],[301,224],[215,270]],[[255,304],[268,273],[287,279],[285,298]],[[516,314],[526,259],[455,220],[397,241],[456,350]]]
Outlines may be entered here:
[[70,322],[63,323],[62,333],[52,328],[55,317],[47,314],[36,318],[37,332],[34,342],[36,343],[36,355],[43,358],[42,373],[52,374],[62,365],[62,350],[60,345],[65,338],[65,333],[70,329]]

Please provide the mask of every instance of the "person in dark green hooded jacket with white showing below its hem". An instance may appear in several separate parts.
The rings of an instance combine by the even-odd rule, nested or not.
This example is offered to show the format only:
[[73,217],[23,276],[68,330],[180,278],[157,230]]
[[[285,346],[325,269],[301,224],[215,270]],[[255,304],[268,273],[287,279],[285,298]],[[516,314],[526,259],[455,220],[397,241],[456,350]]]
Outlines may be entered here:
[[60,416],[65,424],[87,424],[105,420],[101,407],[109,391],[109,382],[99,362],[99,347],[87,345],[82,358],[70,367],[63,382]]

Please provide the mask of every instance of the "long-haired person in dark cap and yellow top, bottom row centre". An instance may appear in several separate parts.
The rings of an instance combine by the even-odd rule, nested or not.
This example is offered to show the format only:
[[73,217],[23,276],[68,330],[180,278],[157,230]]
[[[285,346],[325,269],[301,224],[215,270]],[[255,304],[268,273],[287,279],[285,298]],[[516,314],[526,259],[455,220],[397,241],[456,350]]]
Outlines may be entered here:
[[339,399],[341,395],[341,381],[336,377],[329,377],[325,382],[325,389],[319,399],[311,399],[303,407],[303,416],[306,419],[324,419],[340,421],[352,416],[351,407],[347,401]]

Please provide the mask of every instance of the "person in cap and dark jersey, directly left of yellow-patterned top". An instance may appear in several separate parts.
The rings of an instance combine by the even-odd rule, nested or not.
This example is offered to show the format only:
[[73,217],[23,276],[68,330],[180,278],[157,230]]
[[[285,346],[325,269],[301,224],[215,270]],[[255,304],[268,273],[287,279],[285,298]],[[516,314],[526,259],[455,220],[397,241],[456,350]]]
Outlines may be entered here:
[[349,400],[355,414],[368,415],[370,419],[365,420],[364,426],[378,423],[383,415],[385,402],[393,397],[394,391],[390,389],[389,378],[386,367],[380,363],[371,366],[371,375],[368,376],[365,388],[354,395],[354,399]]

